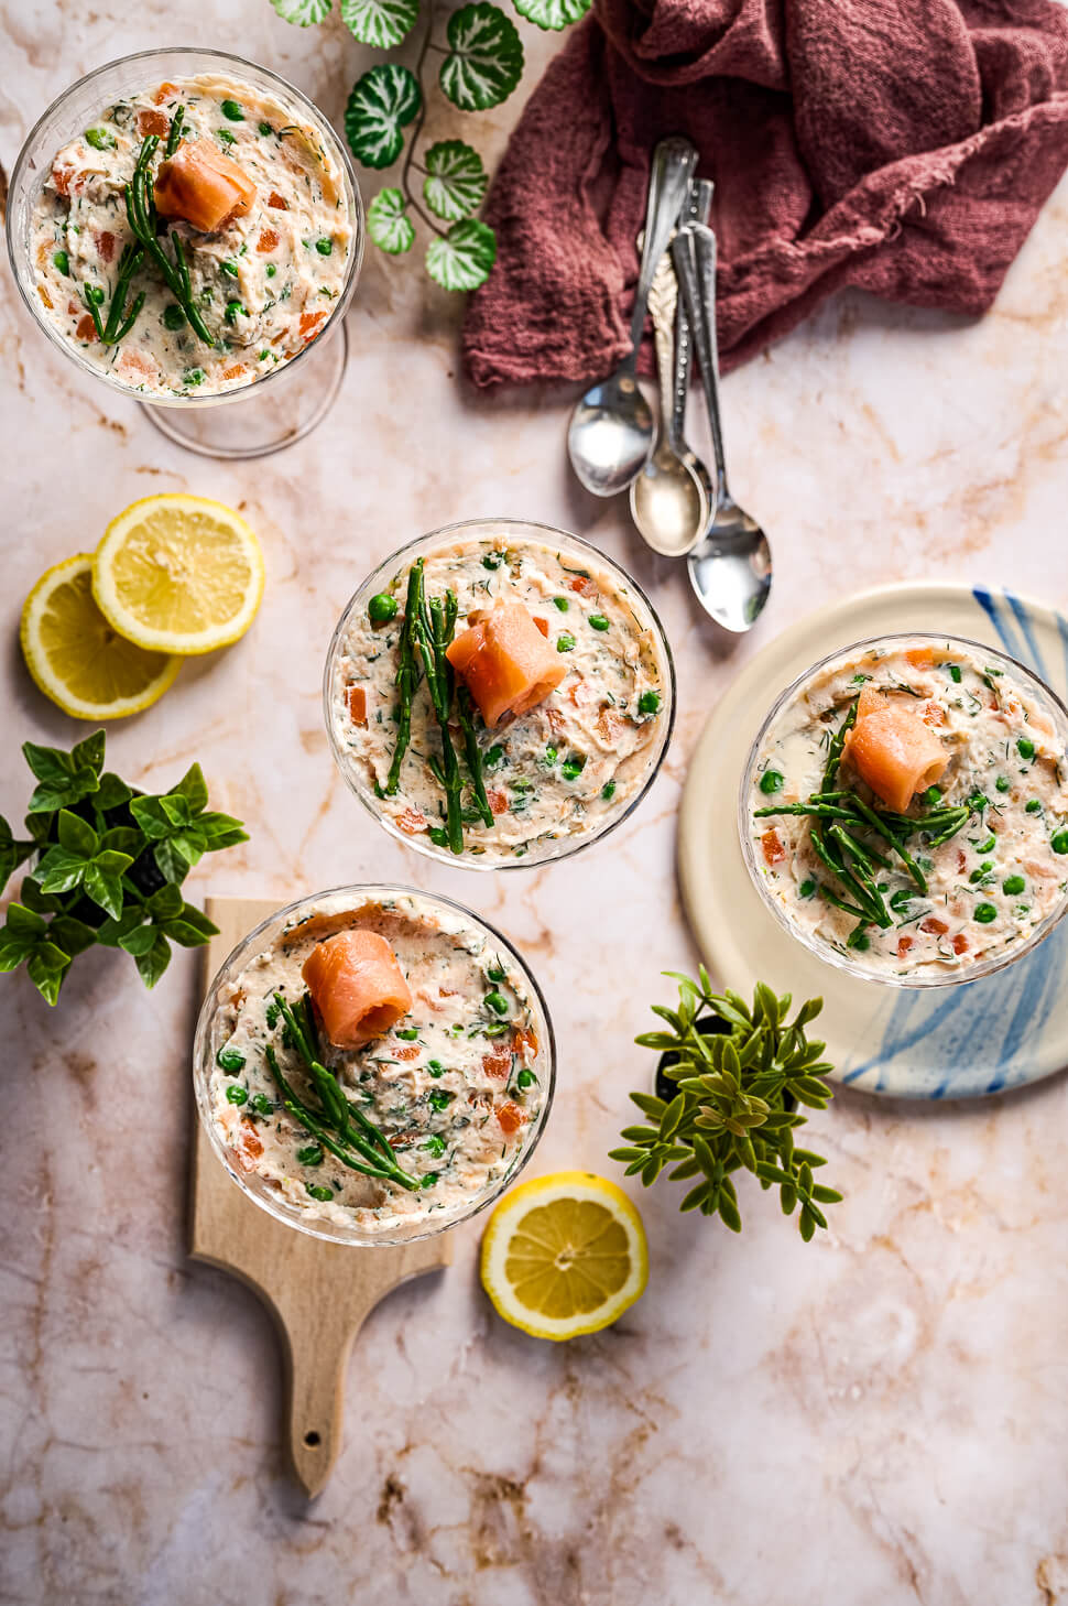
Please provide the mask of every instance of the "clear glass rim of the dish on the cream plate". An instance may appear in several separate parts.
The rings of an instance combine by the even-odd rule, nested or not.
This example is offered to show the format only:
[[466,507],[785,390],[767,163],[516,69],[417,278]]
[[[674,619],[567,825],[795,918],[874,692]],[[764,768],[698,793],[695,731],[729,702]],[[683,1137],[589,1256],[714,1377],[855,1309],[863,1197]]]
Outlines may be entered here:
[[753,887],[756,888],[763,906],[774,915],[781,928],[787,931],[795,943],[800,943],[801,948],[806,948],[809,954],[814,954],[816,959],[821,959],[824,964],[834,965],[837,970],[845,972],[846,975],[853,976],[858,981],[872,981],[877,986],[909,989],[909,991],[928,991],[931,988],[967,986],[970,981],[981,981],[999,970],[1005,970],[1009,965],[1013,965],[1018,959],[1023,959],[1025,954],[1033,952],[1037,948],[1037,944],[1042,943],[1050,935],[1054,927],[1058,925],[1063,915],[1068,914],[1068,893],[1065,893],[1060,899],[1060,904],[1050,909],[1050,912],[1031,930],[1025,943],[1020,943],[1007,949],[1001,949],[997,954],[993,954],[989,959],[983,959],[968,968],[946,970],[944,973],[923,975],[923,976],[882,975],[880,972],[866,968],[864,965],[859,964],[859,960],[840,954],[835,948],[830,946],[830,943],[822,941],[814,933],[803,931],[798,925],[795,925],[785,914],[781,901],[771,896],[771,893],[764,885],[764,878],[763,875],[760,875],[756,867],[756,850],[750,832],[748,803],[753,785],[755,766],[760,758],[760,750],[768,731],[771,729],[781,711],[785,708],[785,705],[790,702],[790,699],[808,681],[811,681],[816,675],[819,675],[819,671],[824,670],[829,663],[834,663],[838,658],[850,657],[854,652],[861,652],[866,647],[882,646],[883,642],[903,642],[903,641],[948,642],[948,644],[957,644],[960,647],[972,647],[976,654],[984,654],[1005,665],[1010,665],[1013,673],[1023,678],[1025,691],[1034,689],[1039,692],[1042,699],[1049,700],[1054,705],[1054,710],[1057,711],[1062,724],[1060,731],[1062,739],[1068,740],[1068,705],[1054,691],[1054,687],[1042,679],[1041,675],[1036,675],[1036,671],[1028,668],[1026,663],[1021,663],[1020,658],[1013,658],[1010,652],[1005,652],[1001,647],[991,647],[989,642],[976,641],[973,636],[959,636],[954,631],[901,630],[901,631],[887,631],[880,636],[864,636],[859,641],[845,642],[842,647],[835,647],[832,652],[825,652],[806,670],[797,675],[790,681],[790,684],[782,692],[779,692],[774,703],[761,719],[760,729],[756,731],[756,736],[753,737],[753,742],[750,745],[745,764],[742,766],[742,777],[739,782],[739,793],[737,793],[739,843],[742,848],[742,859],[745,861],[745,869],[748,870],[748,877]]

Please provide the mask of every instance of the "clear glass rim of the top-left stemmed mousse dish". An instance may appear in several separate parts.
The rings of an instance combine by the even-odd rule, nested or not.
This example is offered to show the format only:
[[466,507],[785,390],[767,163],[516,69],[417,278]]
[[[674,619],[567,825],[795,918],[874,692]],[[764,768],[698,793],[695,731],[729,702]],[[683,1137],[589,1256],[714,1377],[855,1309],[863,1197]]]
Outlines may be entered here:
[[[16,209],[11,206],[11,196],[16,194],[16,190],[22,181],[24,169],[29,165],[29,153],[39,133],[48,125],[50,119],[66,104],[66,101],[71,100],[71,96],[75,95],[79,90],[92,84],[93,79],[104,77],[104,74],[112,72],[116,67],[125,67],[135,61],[151,61],[161,56],[198,56],[201,59],[210,58],[214,61],[225,61],[233,67],[244,69],[246,72],[252,71],[262,74],[267,79],[271,79],[275,84],[279,85],[279,88],[286,95],[296,100],[299,109],[304,109],[310,114],[308,116],[310,122],[313,122],[318,128],[324,128],[329,133],[328,143],[332,146],[334,154],[340,159],[342,175],[352,198],[352,222],[355,226],[353,226],[352,251],[349,254],[349,262],[345,267],[345,279],[340,294],[337,297],[337,302],[334,304],[331,315],[323,324],[320,334],[315,337],[315,340],[308,342],[308,345],[305,345],[300,352],[297,352],[296,357],[291,357],[289,361],[281,363],[278,368],[271,368],[270,373],[257,374],[255,379],[252,379],[247,385],[239,385],[236,390],[226,390],[222,395],[202,395],[202,397],[146,395],[145,392],[137,390],[133,385],[125,385],[120,381],[114,379],[112,374],[109,374],[103,368],[96,368],[93,363],[88,363],[80,355],[80,352],[77,352],[71,345],[69,340],[64,340],[59,331],[43,316],[43,312],[35,304],[35,299],[27,292],[27,287],[22,283],[22,273],[19,271],[19,265],[22,262],[24,243],[21,241],[16,243],[14,239]],[[352,165],[352,157],[349,156],[349,151],[345,149],[329,117],[326,117],[326,114],[320,111],[315,101],[310,100],[304,93],[304,90],[299,90],[296,84],[291,84],[289,79],[284,79],[281,72],[275,72],[273,67],[263,67],[260,66],[259,61],[249,61],[247,56],[238,56],[230,50],[212,50],[209,47],[199,47],[199,45],[157,45],[151,50],[133,50],[125,56],[116,56],[111,61],[101,63],[101,66],[93,67],[90,72],[84,72],[80,79],[75,79],[74,84],[69,84],[66,90],[56,95],[55,100],[51,100],[50,104],[45,108],[45,111],[40,114],[40,117],[37,117],[29,133],[22,140],[22,145],[19,146],[19,154],[16,156],[14,165],[11,167],[11,178],[8,183],[5,238],[8,246],[8,262],[11,263],[11,273],[18,286],[19,296],[22,297],[22,305],[29,310],[37,328],[48,336],[48,339],[53,342],[55,347],[58,347],[58,350],[61,350],[71,361],[77,363],[82,373],[90,374],[93,379],[100,379],[103,384],[108,385],[109,390],[128,397],[132,402],[140,402],[145,406],[169,406],[169,408],[226,406],[234,402],[244,400],[244,397],[251,395],[254,390],[260,390],[270,381],[279,379],[283,374],[292,373],[297,363],[304,357],[307,357],[307,353],[313,347],[316,347],[328,336],[332,336],[340,326],[340,323],[344,323],[345,313],[349,310],[352,296],[357,287],[357,279],[360,278],[360,270],[363,267],[363,252],[366,247],[365,236],[366,236],[366,220],[365,220],[363,196],[360,193],[357,172],[355,167]]]

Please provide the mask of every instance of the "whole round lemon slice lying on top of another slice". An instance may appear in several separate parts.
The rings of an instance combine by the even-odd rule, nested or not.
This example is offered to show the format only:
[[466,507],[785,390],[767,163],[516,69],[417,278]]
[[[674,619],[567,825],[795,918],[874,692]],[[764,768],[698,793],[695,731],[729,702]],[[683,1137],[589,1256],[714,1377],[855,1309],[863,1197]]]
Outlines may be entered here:
[[231,507],[207,496],[145,496],[108,525],[93,596],[114,628],[154,652],[228,647],[255,618],[263,554]]

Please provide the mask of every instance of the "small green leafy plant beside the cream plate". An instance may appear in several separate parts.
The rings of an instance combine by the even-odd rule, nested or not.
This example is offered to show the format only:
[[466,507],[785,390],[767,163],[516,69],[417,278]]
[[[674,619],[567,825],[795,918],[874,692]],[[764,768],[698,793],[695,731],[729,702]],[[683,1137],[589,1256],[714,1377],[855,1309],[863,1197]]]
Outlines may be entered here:
[[[628,1126],[625,1148],[613,1148],[612,1160],[626,1166],[626,1176],[641,1176],[649,1187],[666,1166],[670,1180],[699,1179],[679,1209],[719,1216],[732,1232],[742,1230],[734,1172],[748,1171],[761,1188],[777,1187],[782,1211],[800,1206],[798,1227],[808,1241],[827,1225],[821,1204],[842,1195],[813,1180],[825,1164],[809,1148],[797,1148],[793,1132],[806,1116],[797,1105],[824,1110],[832,1090],[821,1078],[830,1071],[822,1060],[825,1044],[809,1042],[805,1028],[819,1015],[822,999],[808,999],[792,1021],[790,994],[776,997],[758,981],[752,1007],[737,993],[713,993],[702,965],[699,981],[666,970],[678,981],[678,1009],[654,1004],[670,1028],[646,1031],[634,1041],[657,1054],[676,1054],[665,1074],[678,1082],[675,1099],[631,1094],[649,1124]],[[697,1029],[702,1015],[713,1012],[729,1026],[721,1034]]]

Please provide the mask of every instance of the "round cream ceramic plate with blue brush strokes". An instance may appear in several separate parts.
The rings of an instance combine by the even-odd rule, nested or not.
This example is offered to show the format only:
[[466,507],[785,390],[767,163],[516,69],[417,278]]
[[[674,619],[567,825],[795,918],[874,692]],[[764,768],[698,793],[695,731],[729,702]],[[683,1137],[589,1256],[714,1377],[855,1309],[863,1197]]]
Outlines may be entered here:
[[713,978],[747,993],[760,976],[795,999],[822,994],[819,1034],[835,1081],[909,1099],[973,1099],[1068,1065],[1068,920],[994,976],[911,991],[822,964],[764,909],[737,840],[742,766],[774,697],[837,644],[891,631],[989,642],[1068,695],[1068,620],[1010,593],[927,581],[882,586],[809,613],[739,675],[703,729],[679,819],[679,878]]

